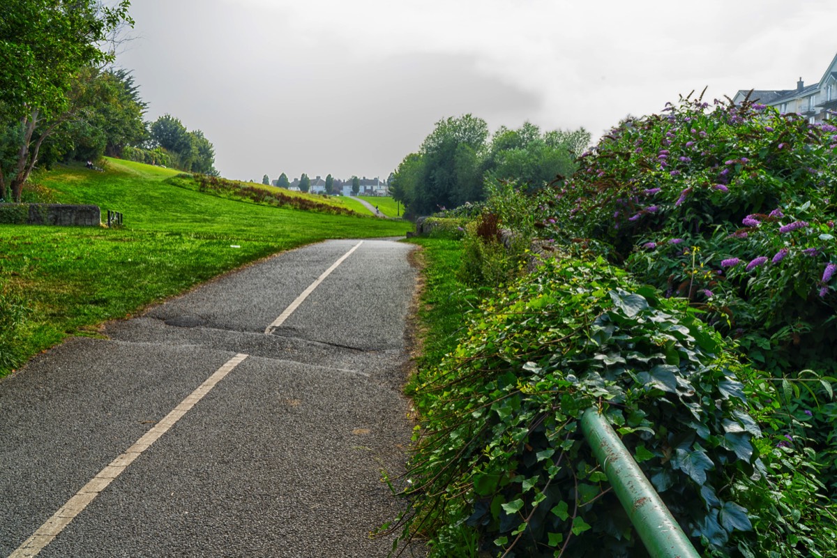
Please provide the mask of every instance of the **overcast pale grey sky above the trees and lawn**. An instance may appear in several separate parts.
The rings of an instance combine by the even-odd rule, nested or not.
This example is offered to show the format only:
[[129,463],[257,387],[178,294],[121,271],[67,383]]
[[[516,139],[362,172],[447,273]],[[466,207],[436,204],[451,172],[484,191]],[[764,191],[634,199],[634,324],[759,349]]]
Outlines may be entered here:
[[793,89],[837,54],[833,0],[133,0],[146,118],[224,177],[388,177],[434,123],[598,137],[680,94]]

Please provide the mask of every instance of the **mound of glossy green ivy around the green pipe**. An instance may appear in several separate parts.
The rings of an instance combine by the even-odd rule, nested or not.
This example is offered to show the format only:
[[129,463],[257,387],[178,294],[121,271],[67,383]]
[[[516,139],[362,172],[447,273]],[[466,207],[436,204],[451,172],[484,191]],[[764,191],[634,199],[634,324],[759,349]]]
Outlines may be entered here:
[[705,555],[819,555],[833,539],[803,551],[787,538],[829,536],[822,487],[763,439],[752,412],[776,392],[730,348],[685,299],[602,259],[545,262],[485,302],[420,378],[405,535],[434,535],[436,555],[455,530],[490,555],[646,555],[580,433],[593,407]]

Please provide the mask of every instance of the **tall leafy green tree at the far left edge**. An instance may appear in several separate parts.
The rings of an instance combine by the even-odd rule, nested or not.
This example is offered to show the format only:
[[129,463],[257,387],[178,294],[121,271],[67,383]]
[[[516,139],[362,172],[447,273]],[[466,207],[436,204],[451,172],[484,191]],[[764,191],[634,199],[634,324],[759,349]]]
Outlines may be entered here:
[[[19,202],[23,183],[44,141],[67,120],[70,93],[82,69],[114,58],[99,47],[122,25],[132,25],[128,0],[115,7],[95,0],[5,0],[0,17],[0,198]],[[10,129],[12,129],[10,131]],[[35,133],[39,129],[39,133]]]

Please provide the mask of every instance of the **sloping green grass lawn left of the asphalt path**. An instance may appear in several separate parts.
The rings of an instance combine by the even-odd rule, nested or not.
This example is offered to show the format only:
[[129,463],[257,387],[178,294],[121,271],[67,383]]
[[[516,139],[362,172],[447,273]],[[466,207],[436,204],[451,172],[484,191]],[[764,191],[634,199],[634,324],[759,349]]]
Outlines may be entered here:
[[303,212],[174,186],[178,171],[109,160],[33,178],[56,202],[92,203],[125,227],[0,225],[0,376],[67,335],[229,269],[326,238],[403,236],[411,223]]

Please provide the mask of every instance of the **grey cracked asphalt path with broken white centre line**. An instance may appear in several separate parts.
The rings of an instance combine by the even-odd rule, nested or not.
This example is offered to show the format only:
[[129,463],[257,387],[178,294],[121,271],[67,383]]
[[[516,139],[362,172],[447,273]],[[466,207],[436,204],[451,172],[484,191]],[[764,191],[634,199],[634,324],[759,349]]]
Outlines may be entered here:
[[0,381],[0,555],[387,555],[412,248],[283,253]]

